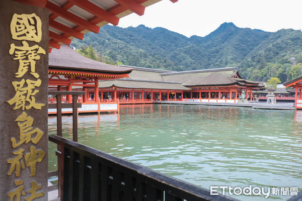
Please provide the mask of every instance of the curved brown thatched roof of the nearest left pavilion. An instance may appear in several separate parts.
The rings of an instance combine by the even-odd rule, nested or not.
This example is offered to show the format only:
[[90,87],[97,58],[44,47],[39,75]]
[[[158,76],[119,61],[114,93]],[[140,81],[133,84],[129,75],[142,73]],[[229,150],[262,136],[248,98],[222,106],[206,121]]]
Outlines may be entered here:
[[89,72],[107,73],[130,73],[133,68],[119,67],[89,59],[74,51],[68,45],[61,45],[61,48],[52,49],[49,53],[50,69],[79,70]]

